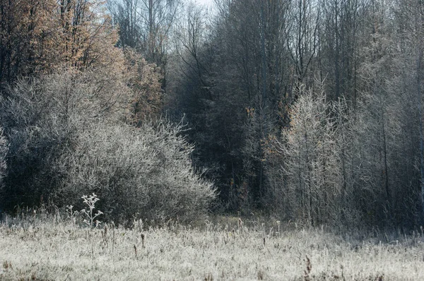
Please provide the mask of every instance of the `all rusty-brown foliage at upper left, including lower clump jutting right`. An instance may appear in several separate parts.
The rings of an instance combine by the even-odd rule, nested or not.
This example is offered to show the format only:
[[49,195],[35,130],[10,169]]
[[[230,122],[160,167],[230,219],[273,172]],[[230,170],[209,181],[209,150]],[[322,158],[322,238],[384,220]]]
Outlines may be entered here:
[[90,71],[99,95],[105,85],[124,94],[119,100],[129,123],[160,114],[160,69],[129,48],[115,47],[117,30],[103,1],[0,0],[0,19],[0,83]]

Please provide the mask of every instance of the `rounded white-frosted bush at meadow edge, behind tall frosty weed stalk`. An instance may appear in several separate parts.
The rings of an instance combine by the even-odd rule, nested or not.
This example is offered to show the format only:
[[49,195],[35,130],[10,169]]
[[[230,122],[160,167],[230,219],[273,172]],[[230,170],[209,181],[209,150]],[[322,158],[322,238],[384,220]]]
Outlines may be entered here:
[[213,185],[194,172],[193,147],[178,133],[165,121],[82,128],[54,164],[62,179],[57,197],[77,203],[81,194],[95,192],[114,220],[199,218],[214,198]]

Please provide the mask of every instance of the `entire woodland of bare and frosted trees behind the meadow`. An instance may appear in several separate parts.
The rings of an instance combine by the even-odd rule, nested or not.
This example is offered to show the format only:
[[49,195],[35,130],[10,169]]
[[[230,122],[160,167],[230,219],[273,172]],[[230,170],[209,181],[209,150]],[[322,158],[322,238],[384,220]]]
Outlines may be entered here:
[[0,0],[0,209],[424,223],[421,0]]

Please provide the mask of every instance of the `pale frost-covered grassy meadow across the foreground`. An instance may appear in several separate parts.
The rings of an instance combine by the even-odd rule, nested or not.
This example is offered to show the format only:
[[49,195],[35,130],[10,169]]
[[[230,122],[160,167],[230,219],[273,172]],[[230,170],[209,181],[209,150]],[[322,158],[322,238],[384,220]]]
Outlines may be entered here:
[[237,218],[93,230],[58,221],[1,222],[0,280],[424,280],[422,231],[358,239]]

